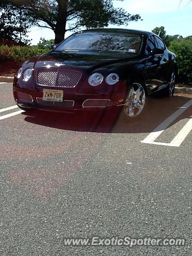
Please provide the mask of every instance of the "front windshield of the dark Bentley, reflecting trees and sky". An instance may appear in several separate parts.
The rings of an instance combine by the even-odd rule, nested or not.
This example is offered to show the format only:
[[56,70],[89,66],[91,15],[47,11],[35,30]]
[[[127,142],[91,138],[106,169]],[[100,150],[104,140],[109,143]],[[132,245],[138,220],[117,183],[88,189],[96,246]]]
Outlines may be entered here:
[[138,54],[141,42],[140,35],[82,33],[70,36],[55,51],[115,51]]

